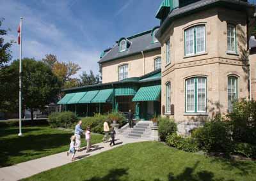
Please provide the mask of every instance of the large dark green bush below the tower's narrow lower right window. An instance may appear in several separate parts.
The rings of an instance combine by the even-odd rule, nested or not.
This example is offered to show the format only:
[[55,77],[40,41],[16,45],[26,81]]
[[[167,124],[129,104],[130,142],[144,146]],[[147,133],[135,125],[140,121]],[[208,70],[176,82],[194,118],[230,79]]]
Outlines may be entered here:
[[226,122],[217,120],[205,123],[192,134],[198,147],[206,152],[232,152],[232,138]]

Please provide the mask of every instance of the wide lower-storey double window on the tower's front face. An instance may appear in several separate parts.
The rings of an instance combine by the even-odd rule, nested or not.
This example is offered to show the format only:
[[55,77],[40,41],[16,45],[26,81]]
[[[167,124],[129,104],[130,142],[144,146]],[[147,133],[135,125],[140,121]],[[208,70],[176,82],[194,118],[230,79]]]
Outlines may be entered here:
[[186,112],[206,112],[206,78],[186,80]]

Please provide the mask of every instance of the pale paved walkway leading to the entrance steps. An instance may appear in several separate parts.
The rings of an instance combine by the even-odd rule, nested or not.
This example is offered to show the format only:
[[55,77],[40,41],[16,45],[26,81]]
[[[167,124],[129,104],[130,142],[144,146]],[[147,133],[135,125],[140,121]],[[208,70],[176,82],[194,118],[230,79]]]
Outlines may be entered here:
[[[126,138],[121,134],[116,135],[116,146],[110,147],[109,143],[97,143],[93,145],[92,152],[86,153],[86,151],[76,153],[76,161],[83,159],[85,157],[94,156],[101,152],[111,150],[112,148],[125,145],[127,143],[135,143],[145,141],[143,139]],[[34,159],[24,163],[15,164],[13,166],[8,166],[0,168],[0,181],[14,181],[20,180],[22,178],[30,177],[36,173],[42,171],[50,170],[51,168],[56,168],[64,164],[71,163],[71,156],[67,157],[67,152],[62,152],[60,154],[55,154],[52,156],[42,157],[39,159]]]

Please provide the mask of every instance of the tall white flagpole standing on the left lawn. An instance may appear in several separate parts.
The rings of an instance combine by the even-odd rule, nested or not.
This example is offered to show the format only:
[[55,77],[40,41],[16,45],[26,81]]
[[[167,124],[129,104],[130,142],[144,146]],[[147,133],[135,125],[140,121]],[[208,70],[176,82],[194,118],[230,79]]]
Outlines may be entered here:
[[22,17],[20,17],[20,76],[19,76],[19,125],[20,125],[20,133],[21,133],[21,117],[22,117],[22,85],[21,85],[21,74],[22,74],[22,63],[21,63],[21,50],[22,50]]

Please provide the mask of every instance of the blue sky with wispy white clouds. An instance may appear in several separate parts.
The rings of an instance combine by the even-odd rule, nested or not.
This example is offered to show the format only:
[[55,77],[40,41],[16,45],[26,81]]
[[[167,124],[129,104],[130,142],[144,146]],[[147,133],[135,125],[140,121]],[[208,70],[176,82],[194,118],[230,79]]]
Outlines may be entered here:
[[[99,72],[100,53],[121,37],[159,25],[155,18],[162,0],[0,0],[6,41],[17,41],[20,17],[22,57],[40,60],[54,54],[58,61],[76,62],[83,71]],[[12,46],[13,59],[19,46]]]

